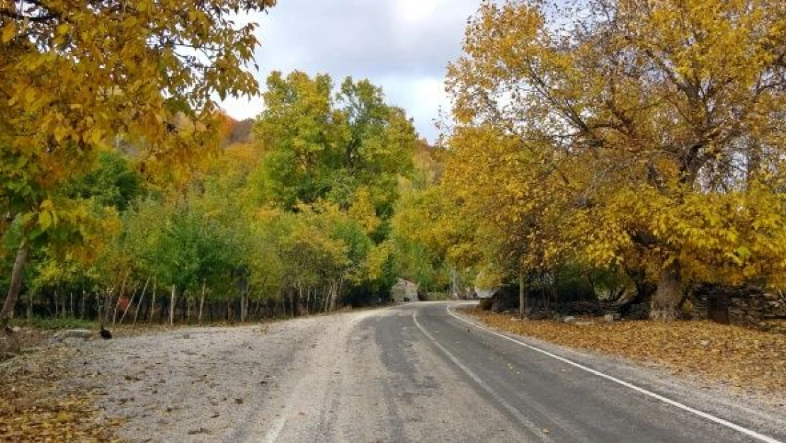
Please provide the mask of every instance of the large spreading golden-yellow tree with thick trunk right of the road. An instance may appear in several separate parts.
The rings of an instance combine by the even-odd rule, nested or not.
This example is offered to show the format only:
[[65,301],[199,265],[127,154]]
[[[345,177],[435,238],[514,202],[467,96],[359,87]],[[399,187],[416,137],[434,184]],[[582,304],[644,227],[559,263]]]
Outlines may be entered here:
[[457,192],[499,190],[524,264],[655,283],[655,319],[695,282],[782,285],[784,42],[776,0],[485,2],[449,72]]

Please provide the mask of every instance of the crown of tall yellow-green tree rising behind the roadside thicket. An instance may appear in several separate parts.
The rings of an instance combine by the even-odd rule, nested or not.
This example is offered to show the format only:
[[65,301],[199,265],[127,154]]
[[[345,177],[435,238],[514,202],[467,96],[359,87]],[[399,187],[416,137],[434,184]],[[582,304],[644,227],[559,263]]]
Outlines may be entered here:
[[387,105],[368,80],[347,78],[336,90],[325,74],[274,72],[267,88],[256,127],[264,199],[284,209],[320,199],[347,209],[363,189],[389,217],[417,141],[402,109]]

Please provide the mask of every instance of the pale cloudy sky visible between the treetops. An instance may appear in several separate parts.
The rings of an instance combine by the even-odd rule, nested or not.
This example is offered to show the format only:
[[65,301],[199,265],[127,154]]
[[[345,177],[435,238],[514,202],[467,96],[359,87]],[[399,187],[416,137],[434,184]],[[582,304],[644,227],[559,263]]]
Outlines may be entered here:
[[[387,101],[415,120],[434,141],[434,120],[449,111],[443,86],[446,65],[461,54],[467,18],[480,0],[279,0],[260,24],[257,75],[294,69],[368,78]],[[236,119],[254,117],[262,98],[222,104]]]

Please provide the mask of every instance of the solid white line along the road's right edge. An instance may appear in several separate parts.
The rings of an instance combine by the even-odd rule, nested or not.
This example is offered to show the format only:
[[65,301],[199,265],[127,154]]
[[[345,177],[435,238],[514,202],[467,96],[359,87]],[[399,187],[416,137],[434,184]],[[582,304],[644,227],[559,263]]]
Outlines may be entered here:
[[749,437],[753,437],[753,438],[755,438],[758,441],[766,441],[767,443],[782,443],[781,441],[776,440],[773,437],[767,437],[766,435],[759,434],[755,430],[747,429],[746,427],[740,426],[740,425],[738,425],[736,423],[731,423],[728,420],[725,420],[725,419],[722,419],[720,417],[716,417],[714,415],[708,414],[707,412],[703,412],[703,411],[699,411],[698,409],[691,408],[690,406],[688,406],[686,404],[681,404],[678,401],[674,401],[674,400],[671,400],[670,398],[663,397],[662,395],[659,395],[659,394],[654,393],[652,391],[649,391],[647,389],[641,388],[641,387],[636,386],[636,385],[634,385],[632,383],[626,382],[624,380],[620,380],[619,378],[615,378],[612,375],[604,374],[603,372],[596,371],[596,370],[594,370],[591,367],[586,367],[583,364],[578,364],[578,363],[576,363],[573,360],[567,360],[567,358],[558,356],[558,355],[553,354],[553,353],[549,353],[549,351],[545,351],[544,349],[540,349],[540,348],[538,348],[536,346],[530,345],[530,344],[525,343],[523,341],[516,340],[516,338],[509,337],[509,336],[507,336],[505,334],[500,334],[500,333],[498,333],[498,332],[496,332],[494,330],[490,330],[487,327],[480,326],[479,324],[471,322],[471,321],[469,321],[467,319],[462,319],[460,316],[457,316],[450,309],[450,306],[447,306],[447,312],[450,314],[450,316],[453,316],[455,319],[457,319],[457,320],[459,320],[461,322],[467,323],[469,325],[472,325],[473,327],[476,327],[478,329],[485,330],[489,334],[494,334],[494,335],[496,335],[499,338],[505,338],[505,340],[512,341],[514,343],[522,345],[523,347],[525,347],[527,349],[531,349],[531,350],[533,350],[535,352],[542,353],[545,356],[550,356],[553,359],[560,360],[561,362],[570,364],[571,366],[578,367],[579,369],[582,369],[583,371],[587,371],[590,374],[597,375],[598,377],[605,378],[605,379],[607,379],[607,380],[609,380],[611,382],[615,382],[618,385],[622,385],[622,386],[625,386],[626,388],[633,389],[634,391],[636,391],[638,393],[643,393],[643,394],[645,394],[648,397],[652,397],[652,398],[655,398],[655,399],[657,399],[659,401],[663,401],[663,403],[670,404],[671,406],[674,406],[675,408],[680,408],[683,411],[690,412],[690,413],[692,413],[694,415],[698,415],[701,418],[710,420],[713,423],[718,423],[719,425],[726,426],[726,427],[728,427],[730,429],[736,430],[736,431],[738,431],[738,432],[740,432],[742,434],[745,434],[745,435],[747,435]]

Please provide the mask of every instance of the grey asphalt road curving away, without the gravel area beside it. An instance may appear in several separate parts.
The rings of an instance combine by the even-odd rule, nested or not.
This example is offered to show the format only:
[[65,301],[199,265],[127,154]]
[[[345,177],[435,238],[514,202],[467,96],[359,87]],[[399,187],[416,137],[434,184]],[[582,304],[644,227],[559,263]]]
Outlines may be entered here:
[[[560,360],[559,351],[468,323],[456,308],[413,303],[365,316],[348,330],[339,358],[305,371],[288,387],[292,394],[280,406],[285,412],[247,440],[254,434],[263,441],[353,442],[784,437],[777,435],[782,423],[745,408],[659,386],[635,369],[604,367],[593,357]],[[332,378],[308,382],[325,367]]]

